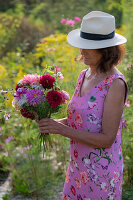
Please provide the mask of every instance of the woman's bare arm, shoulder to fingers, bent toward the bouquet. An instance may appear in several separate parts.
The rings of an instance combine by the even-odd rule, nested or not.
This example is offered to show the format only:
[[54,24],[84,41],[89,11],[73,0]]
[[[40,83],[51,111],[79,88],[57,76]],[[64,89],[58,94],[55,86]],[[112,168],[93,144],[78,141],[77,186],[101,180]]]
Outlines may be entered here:
[[104,102],[101,133],[75,130],[53,119],[40,120],[40,132],[60,134],[93,148],[109,148],[119,128],[124,98],[125,84],[121,79],[116,79],[110,86]]

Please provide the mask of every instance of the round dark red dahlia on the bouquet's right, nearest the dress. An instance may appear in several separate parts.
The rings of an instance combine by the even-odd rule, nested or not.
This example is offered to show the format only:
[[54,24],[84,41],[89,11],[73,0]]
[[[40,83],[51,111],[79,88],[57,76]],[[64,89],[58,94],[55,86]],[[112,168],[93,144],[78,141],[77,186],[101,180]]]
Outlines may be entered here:
[[46,99],[50,107],[56,108],[62,103],[62,94],[56,90],[51,90],[47,93]]

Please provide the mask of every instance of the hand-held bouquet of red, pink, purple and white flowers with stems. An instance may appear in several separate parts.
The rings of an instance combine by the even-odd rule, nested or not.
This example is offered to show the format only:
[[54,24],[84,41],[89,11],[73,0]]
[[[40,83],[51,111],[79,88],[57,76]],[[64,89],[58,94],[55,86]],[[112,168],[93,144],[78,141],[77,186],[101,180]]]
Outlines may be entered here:
[[[13,107],[19,110],[23,117],[32,120],[36,119],[36,115],[39,120],[50,118],[52,113],[58,112],[61,105],[66,104],[70,99],[66,91],[57,87],[58,78],[63,78],[63,76],[57,71],[52,75],[47,72],[42,75],[24,75],[24,78],[16,85]],[[39,133],[39,139],[41,143],[43,142],[44,151],[47,149],[47,142],[52,146],[48,133]]]

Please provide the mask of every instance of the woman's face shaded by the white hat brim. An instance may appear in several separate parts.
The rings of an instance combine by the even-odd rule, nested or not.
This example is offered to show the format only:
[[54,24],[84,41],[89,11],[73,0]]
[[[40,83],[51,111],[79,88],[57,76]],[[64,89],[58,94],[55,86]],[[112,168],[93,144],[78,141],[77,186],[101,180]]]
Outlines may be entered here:
[[84,64],[90,66],[97,66],[102,58],[102,55],[96,49],[80,49],[80,54],[83,57]]

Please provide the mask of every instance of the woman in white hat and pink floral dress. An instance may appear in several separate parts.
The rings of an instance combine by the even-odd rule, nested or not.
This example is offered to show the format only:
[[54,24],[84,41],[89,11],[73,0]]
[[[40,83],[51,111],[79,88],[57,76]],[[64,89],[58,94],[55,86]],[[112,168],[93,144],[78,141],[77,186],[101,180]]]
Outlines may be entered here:
[[68,34],[84,64],[67,118],[38,121],[40,132],[70,138],[70,163],[62,200],[120,200],[123,157],[122,114],[128,87],[115,66],[126,38],[115,33],[115,19],[100,11],[84,16],[81,29]]

